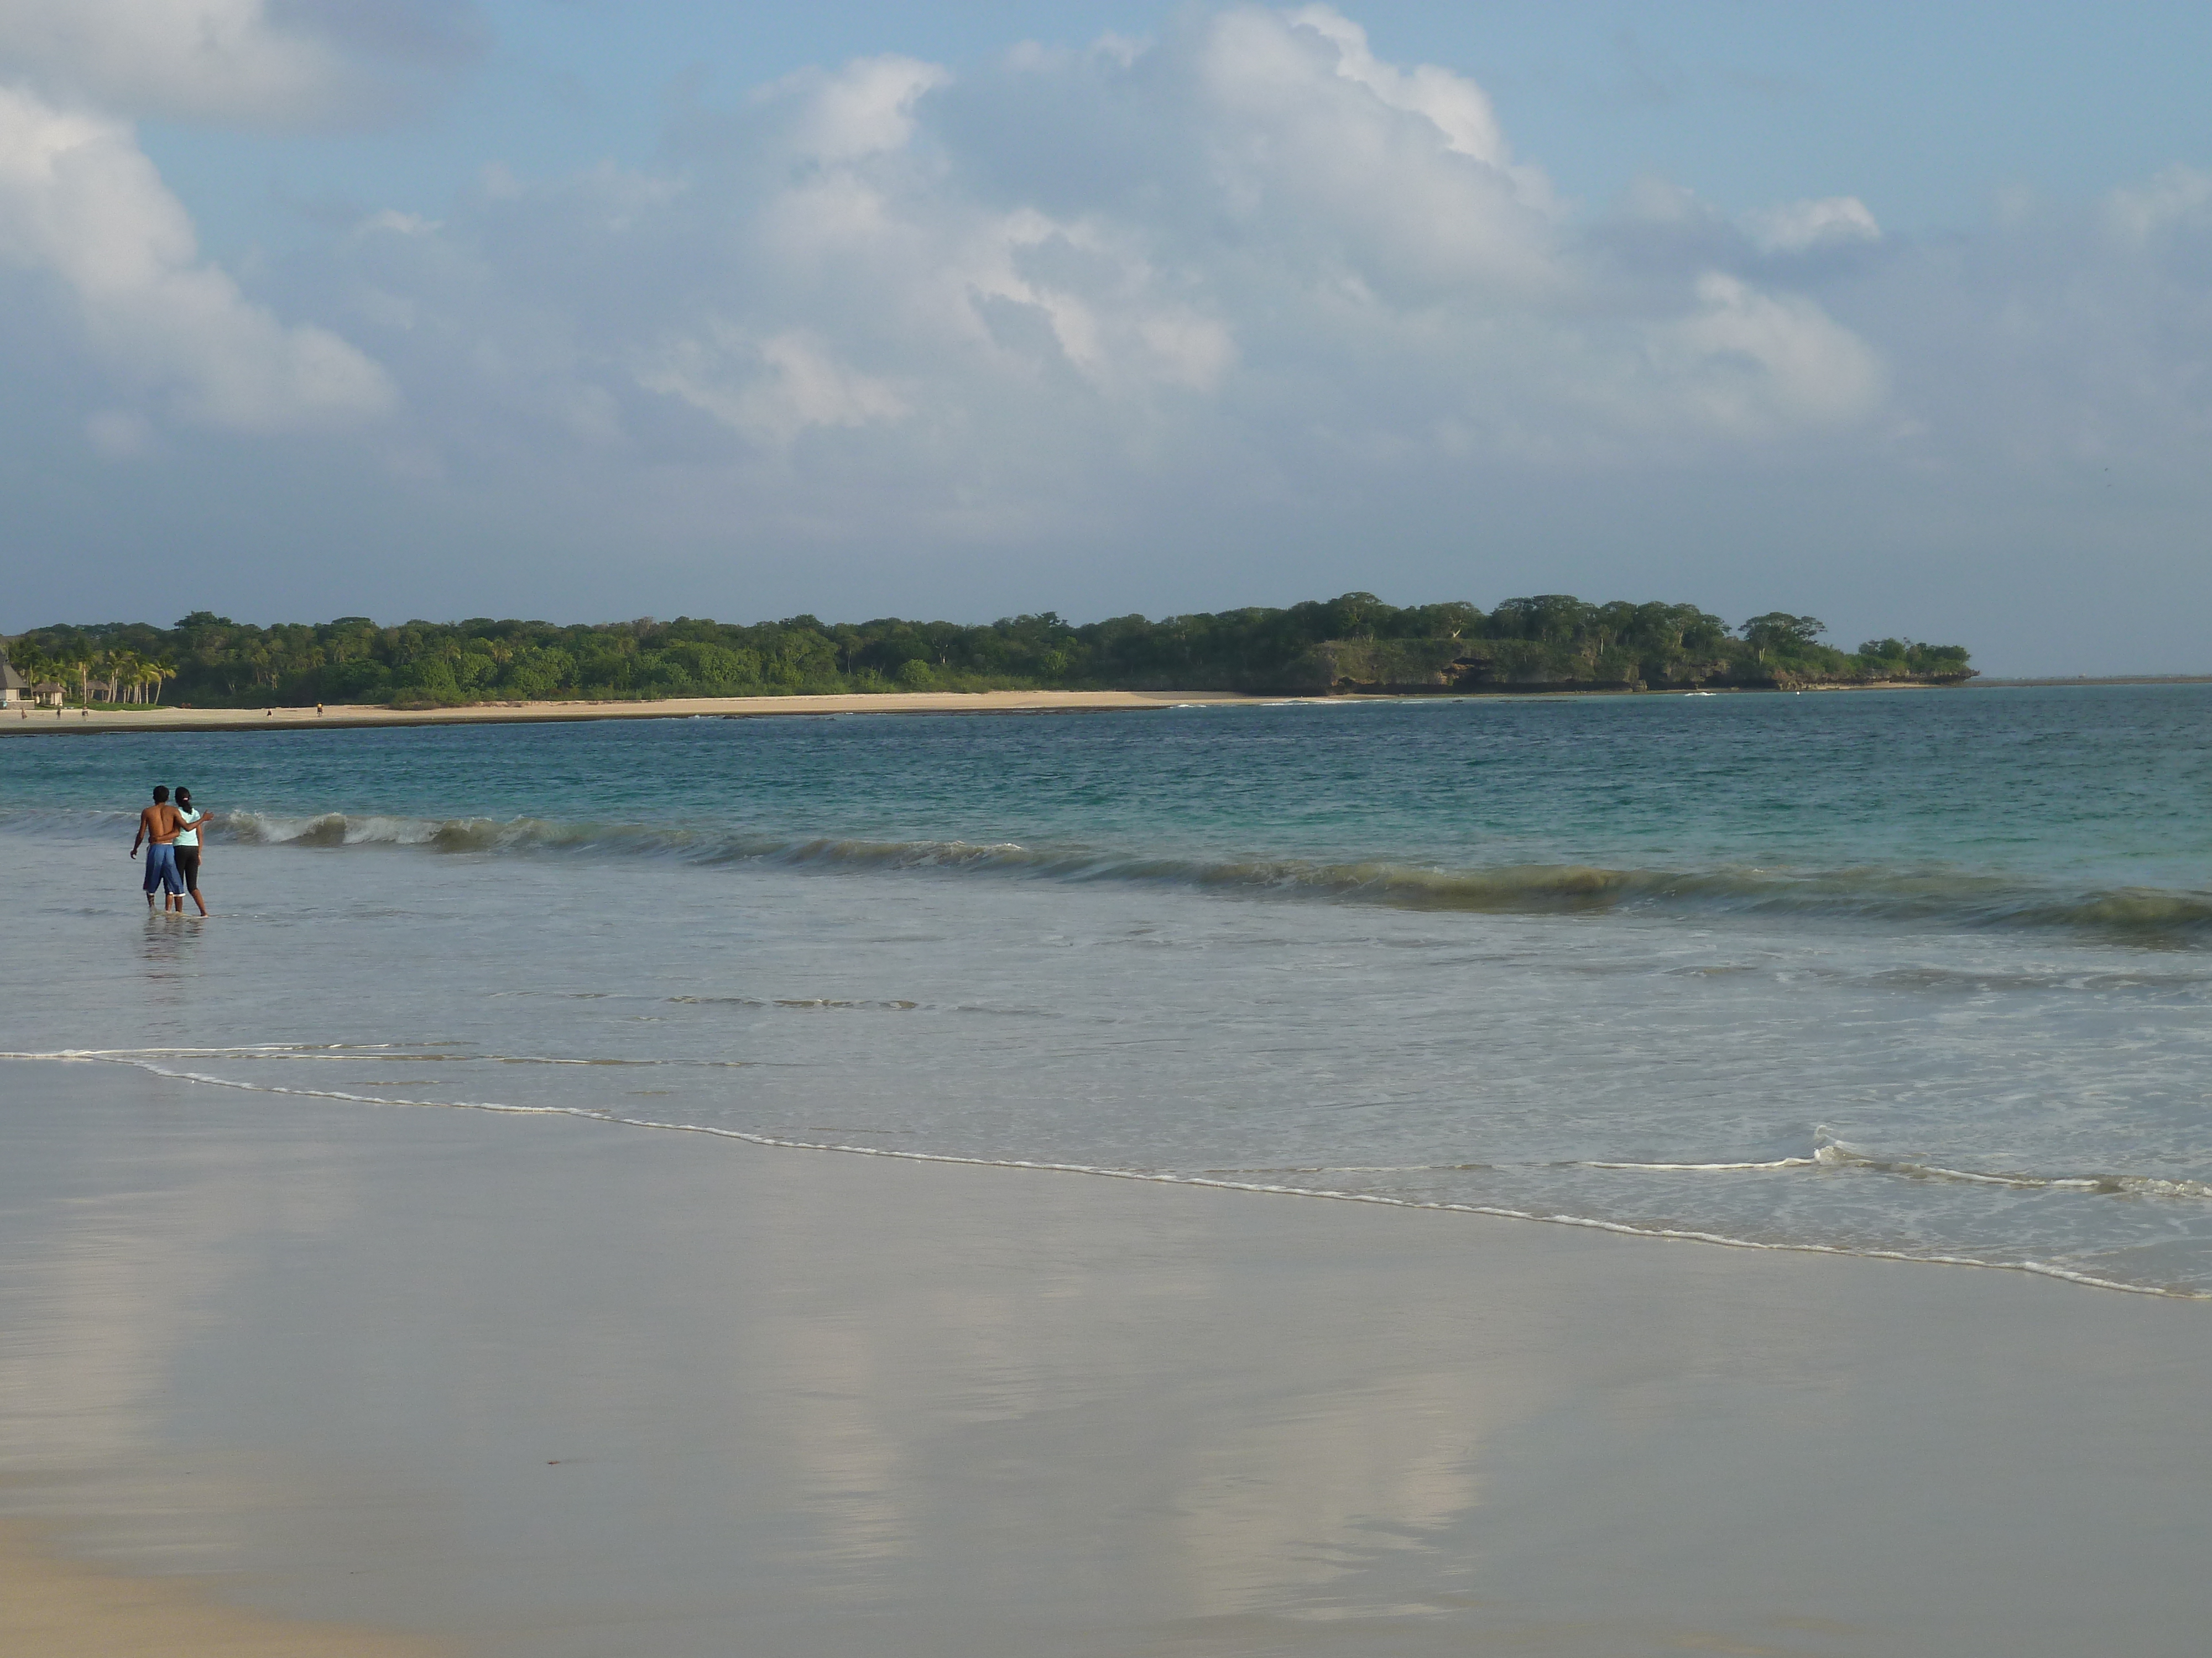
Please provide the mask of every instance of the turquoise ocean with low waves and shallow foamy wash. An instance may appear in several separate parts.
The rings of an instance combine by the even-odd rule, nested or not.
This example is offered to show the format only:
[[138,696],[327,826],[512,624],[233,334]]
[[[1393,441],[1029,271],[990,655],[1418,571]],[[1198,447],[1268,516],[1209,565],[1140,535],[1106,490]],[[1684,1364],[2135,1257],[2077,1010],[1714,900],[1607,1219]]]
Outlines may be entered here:
[[[122,856],[155,783],[208,922]],[[0,847],[0,1048],[204,1112],[2212,1295],[2203,685],[42,732]]]

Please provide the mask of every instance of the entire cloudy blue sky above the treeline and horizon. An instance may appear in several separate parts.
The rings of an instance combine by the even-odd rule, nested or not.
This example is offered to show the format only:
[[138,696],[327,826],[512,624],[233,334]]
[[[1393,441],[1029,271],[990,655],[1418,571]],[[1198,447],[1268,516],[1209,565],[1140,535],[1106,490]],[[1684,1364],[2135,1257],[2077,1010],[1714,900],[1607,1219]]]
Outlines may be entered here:
[[1526,592],[2212,672],[2212,9],[0,0],[0,630]]

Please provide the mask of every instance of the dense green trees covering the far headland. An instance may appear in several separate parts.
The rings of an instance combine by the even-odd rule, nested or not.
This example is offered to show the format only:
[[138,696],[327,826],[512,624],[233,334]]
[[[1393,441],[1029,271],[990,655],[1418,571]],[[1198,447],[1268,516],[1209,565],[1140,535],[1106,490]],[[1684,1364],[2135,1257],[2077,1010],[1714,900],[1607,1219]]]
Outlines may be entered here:
[[7,641],[29,681],[71,701],[197,707],[436,705],[531,699],[752,696],[993,688],[1126,690],[1644,690],[1958,681],[1960,646],[1820,643],[1812,617],[1770,612],[1730,630],[1686,604],[1584,604],[1564,595],[1389,606],[1371,592],[1287,610],[1115,617],[1053,612],[953,621],[409,621],[367,617],[257,628],[195,610],[175,628],[33,628]]

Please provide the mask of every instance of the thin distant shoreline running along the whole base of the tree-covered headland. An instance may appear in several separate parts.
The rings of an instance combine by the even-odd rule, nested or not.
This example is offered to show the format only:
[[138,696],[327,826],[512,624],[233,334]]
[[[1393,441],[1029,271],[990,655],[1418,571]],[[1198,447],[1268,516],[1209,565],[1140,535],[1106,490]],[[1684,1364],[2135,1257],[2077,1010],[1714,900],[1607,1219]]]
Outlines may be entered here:
[[[2212,681],[2212,676],[2205,676]],[[1969,681],[1978,683],[1978,681]],[[1989,681],[1980,681],[1989,683]],[[2152,683],[2152,681],[1993,681],[2006,683]],[[1854,690],[1958,690],[1927,681],[1865,681],[1854,685],[1805,685],[1807,692]],[[1340,692],[1332,696],[1281,696],[1259,692],[843,692],[832,696],[670,696],[664,701],[546,701],[546,703],[460,703],[453,707],[385,707],[378,703],[330,703],[314,707],[69,707],[60,718],[51,707],[0,714],[0,736],[102,736],[113,732],[296,732],[363,730],[385,725],[584,725],[593,721],[675,721],[675,718],[774,718],[823,714],[1106,714],[1208,705],[1261,703],[1427,703],[1491,699],[1559,699],[1559,696],[1697,696],[1690,690],[1641,690],[1613,685],[1542,685],[1498,688],[1478,692]],[[1717,685],[1710,696],[1776,696],[1767,685]]]

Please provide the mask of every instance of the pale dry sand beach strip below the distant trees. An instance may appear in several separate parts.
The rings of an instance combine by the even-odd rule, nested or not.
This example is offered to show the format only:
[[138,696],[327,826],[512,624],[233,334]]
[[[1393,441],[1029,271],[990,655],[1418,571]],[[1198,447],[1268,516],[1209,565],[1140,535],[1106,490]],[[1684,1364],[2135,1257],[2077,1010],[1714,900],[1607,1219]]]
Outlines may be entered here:
[[889,692],[880,696],[672,696],[657,703],[471,703],[467,707],[11,707],[0,736],[40,732],[259,732],[312,725],[498,725],[509,721],[677,721],[774,714],[1086,714],[1248,703],[1239,692]]

